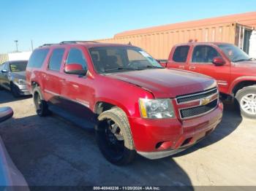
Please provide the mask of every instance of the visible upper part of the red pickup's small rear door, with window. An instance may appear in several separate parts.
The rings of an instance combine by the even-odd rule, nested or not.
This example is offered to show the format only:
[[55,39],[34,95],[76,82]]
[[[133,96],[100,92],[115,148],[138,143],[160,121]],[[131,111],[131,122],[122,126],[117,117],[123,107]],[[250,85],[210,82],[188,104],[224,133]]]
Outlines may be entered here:
[[189,49],[189,45],[176,47],[175,50],[173,50],[174,52],[170,54],[171,58],[169,58],[167,62],[167,68],[186,70]]

